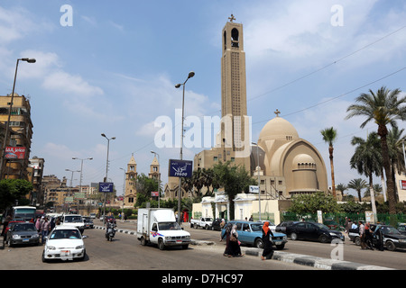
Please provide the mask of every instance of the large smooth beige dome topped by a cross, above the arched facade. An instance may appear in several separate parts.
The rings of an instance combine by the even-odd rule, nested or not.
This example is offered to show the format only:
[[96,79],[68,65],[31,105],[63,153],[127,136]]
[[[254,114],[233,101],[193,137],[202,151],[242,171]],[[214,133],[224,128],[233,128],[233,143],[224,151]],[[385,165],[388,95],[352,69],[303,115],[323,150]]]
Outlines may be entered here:
[[286,121],[281,117],[275,117],[263,126],[259,139],[294,140],[299,139],[299,134],[289,121]]

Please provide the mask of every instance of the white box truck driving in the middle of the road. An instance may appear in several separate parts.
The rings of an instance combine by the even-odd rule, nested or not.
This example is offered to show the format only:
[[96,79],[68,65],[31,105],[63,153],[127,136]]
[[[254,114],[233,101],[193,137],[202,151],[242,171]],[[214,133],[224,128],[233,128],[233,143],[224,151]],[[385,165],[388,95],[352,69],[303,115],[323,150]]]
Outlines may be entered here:
[[137,238],[141,245],[157,244],[163,250],[165,247],[189,247],[190,234],[180,228],[176,222],[175,213],[168,208],[138,209]]

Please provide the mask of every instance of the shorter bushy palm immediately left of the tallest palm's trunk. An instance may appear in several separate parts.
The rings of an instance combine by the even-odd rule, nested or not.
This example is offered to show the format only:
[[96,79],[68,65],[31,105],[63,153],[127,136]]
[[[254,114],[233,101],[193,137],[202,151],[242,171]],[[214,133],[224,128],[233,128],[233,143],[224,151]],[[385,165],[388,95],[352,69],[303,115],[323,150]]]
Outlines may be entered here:
[[369,179],[369,192],[371,194],[371,204],[374,212],[375,223],[377,222],[376,204],[374,197],[373,175],[382,174],[382,153],[378,135],[373,132],[368,135],[366,140],[360,137],[354,137],[351,140],[355,148],[355,153],[350,159],[351,168],[355,168],[359,174],[366,175]]

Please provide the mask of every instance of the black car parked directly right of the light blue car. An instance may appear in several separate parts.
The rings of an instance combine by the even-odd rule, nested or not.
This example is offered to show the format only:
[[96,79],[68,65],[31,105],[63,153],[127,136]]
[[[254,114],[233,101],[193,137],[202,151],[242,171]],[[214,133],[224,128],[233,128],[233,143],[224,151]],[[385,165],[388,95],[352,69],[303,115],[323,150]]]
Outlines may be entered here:
[[317,222],[297,222],[291,226],[291,240],[313,240],[322,243],[331,242],[333,239],[344,241],[344,235],[340,231],[328,229],[324,224]]

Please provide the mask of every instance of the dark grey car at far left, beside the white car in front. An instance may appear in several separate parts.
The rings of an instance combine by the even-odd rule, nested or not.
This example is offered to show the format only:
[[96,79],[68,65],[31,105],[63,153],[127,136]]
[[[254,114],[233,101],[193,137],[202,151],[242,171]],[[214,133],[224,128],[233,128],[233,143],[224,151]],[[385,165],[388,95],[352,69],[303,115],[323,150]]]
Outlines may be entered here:
[[16,222],[5,236],[8,247],[21,244],[40,244],[40,235],[32,222]]

